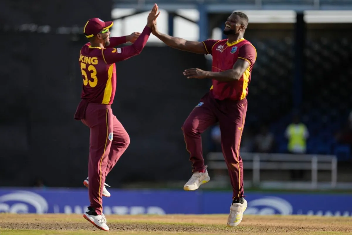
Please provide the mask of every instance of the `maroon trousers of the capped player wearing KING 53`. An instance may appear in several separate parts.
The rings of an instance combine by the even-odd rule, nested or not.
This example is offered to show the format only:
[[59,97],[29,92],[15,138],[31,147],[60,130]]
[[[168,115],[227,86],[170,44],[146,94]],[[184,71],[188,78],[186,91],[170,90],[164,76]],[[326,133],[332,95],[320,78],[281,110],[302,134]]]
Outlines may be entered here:
[[[130,137],[124,126],[113,115],[111,105],[88,103],[81,106],[82,109],[86,106],[82,122],[90,129],[88,163],[90,206],[101,215],[106,175],[127,149]],[[79,109],[80,105],[76,113],[81,112]]]

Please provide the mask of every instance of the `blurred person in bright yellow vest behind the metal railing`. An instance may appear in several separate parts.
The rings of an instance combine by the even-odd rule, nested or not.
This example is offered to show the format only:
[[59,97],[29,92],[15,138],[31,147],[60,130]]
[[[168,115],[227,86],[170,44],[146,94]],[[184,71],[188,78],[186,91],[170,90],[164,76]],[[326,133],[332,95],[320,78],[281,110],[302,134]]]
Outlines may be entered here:
[[[293,122],[289,124],[285,131],[285,137],[288,139],[287,150],[291,154],[305,154],[307,150],[307,138],[309,137],[307,126],[301,123],[300,116],[294,115]],[[293,180],[302,179],[303,170],[292,170],[291,178]]]

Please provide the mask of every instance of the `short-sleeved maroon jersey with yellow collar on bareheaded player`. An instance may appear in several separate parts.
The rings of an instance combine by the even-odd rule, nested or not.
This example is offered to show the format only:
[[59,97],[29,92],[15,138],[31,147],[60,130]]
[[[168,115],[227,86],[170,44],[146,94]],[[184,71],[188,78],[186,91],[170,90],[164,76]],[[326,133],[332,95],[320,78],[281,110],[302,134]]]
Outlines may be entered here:
[[219,100],[242,100],[246,98],[253,65],[257,59],[257,51],[254,46],[244,38],[232,43],[229,43],[227,39],[208,39],[203,41],[203,44],[207,54],[213,56],[213,72],[232,69],[238,59],[245,60],[250,64],[238,81],[220,82],[213,79],[210,94]]

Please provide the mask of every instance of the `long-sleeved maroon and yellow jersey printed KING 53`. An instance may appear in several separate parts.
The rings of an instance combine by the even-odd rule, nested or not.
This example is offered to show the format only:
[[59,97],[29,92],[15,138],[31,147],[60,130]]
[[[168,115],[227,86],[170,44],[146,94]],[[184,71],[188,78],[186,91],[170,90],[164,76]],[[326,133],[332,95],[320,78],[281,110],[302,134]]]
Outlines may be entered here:
[[112,104],[116,91],[115,63],[138,55],[144,48],[151,29],[145,27],[136,42],[123,48],[114,48],[126,42],[126,37],[110,38],[106,48],[92,47],[85,44],[80,51],[83,88],[81,99],[89,103]]

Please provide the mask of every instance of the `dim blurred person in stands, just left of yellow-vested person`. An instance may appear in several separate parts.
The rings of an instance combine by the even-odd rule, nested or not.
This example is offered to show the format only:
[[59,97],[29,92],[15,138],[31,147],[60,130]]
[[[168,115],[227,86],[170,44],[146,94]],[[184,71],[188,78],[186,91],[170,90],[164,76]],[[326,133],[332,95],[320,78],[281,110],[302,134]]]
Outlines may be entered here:
[[257,153],[272,153],[274,145],[274,135],[269,132],[267,126],[262,126],[260,133],[254,138],[254,151]]

